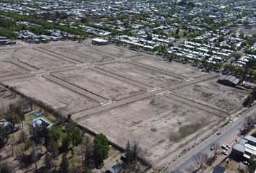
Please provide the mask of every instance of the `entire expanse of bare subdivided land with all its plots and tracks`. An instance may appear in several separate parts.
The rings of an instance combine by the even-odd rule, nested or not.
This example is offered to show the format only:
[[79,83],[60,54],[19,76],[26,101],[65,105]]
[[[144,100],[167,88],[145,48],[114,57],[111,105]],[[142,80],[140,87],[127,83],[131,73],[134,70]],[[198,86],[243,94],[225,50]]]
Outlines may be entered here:
[[151,163],[174,159],[196,134],[208,136],[242,107],[247,92],[216,76],[90,40],[0,50],[3,84],[121,147],[137,141]]

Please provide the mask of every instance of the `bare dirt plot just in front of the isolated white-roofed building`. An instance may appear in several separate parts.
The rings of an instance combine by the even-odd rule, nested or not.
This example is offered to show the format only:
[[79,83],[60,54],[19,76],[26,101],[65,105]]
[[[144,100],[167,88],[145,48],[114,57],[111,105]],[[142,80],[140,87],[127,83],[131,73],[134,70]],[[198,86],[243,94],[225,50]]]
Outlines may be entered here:
[[[92,45],[93,46],[93,45]],[[114,60],[114,56],[109,56],[106,53],[98,52],[98,50],[93,50],[91,46],[85,44],[59,44],[59,45],[48,45],[41,46],[41,48],[51,51],[53,53],[57,53],[61,56],[73,58],[77,61],[81,61],[83,63],[98,63],[103,61],[111,61]],[[105,50],[107,48],[103,46]]]

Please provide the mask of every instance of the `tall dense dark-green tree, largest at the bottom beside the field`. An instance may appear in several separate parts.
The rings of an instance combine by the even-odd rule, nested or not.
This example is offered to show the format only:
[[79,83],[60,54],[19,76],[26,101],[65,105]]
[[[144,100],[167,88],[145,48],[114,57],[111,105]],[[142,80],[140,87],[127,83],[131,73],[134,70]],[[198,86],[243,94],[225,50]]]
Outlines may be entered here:
[[93,140],[93,158],[96,164],[101,164],[108,157],[108,138],[102,133],[95,136]]

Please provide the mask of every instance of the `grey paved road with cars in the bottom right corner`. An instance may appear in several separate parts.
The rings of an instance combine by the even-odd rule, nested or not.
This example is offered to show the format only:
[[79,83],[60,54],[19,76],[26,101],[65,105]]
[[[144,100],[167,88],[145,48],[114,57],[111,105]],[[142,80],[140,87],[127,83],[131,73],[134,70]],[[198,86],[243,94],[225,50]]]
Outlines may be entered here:
[[[223,144],[232,144],[239,138],[239,130],[242,128],[242,124],[244,123],[244,118],[249,115],[256,115],[256,107],[247,112],[242,117],[238,117],[234,120],[233,123],[227,125],[225,128],[221,130],[221,135],[217,136],[216,134],[212,137],[208,138],[205,142],[201,143],[199,146],[195,147],[192,151],[182,156],[180,159],[176,160],[174,163],[170,164],[168,169],[164,170],[164,173],[168,173],[171,171],[181,171],[188,172],[187,168],[194,164],[194,157],[197,153],[212,155],[212,151],[210,151],[210,143],[216,142]],[[231,149],[228,151],[231,152]]]

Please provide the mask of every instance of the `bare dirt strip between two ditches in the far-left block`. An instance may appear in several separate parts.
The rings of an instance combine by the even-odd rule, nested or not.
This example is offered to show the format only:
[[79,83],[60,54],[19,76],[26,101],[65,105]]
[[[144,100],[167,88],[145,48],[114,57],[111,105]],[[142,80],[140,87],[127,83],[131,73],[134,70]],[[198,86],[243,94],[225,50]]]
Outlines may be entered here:
[[60,58],[48,56],[47,54],[41,53],[38,50],[34,50],[32,48],[1,50],[0,58],[1,61],[12,61],[18,59],[19,61],[26,63],[29,66],[33,66],[42,70],[74,65],[67,61],[63,61]]

